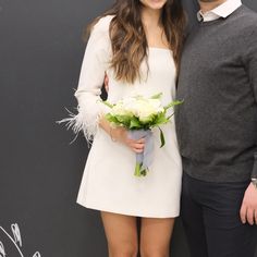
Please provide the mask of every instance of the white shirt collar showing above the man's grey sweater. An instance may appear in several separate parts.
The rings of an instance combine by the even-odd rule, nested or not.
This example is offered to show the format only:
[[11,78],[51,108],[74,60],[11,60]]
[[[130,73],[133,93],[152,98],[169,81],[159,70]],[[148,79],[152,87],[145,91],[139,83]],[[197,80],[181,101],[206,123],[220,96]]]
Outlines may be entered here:
[[227,0],[219,7],[212,9],[211,11],[208,11],[206,13],[203,13],[200,10],[197,13],[197,19],[199,22],[210,22],[218,20],[219,17],[228,17],[231,13],[233,13],[237,8],[242,5],[241,0]]

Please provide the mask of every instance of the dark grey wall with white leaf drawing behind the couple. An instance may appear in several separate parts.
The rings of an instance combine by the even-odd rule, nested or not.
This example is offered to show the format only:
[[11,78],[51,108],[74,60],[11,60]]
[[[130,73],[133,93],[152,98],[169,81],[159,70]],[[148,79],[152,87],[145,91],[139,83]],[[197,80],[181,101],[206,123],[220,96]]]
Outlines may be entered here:
[[[54,121],[76,106],[83,27],[111,3],[0,0],[1,257],[107,256],[98,212],[75,204],[87,145]],[[188,257],[180,220],[171,253]]]

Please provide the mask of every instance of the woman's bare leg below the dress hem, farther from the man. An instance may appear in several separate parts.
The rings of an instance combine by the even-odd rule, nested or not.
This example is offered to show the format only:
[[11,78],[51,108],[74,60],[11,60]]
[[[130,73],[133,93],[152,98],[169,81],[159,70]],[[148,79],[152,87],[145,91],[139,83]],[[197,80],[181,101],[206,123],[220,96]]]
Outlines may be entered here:
[[136,218],[101,211],[101,219],[107,236],[109,256],[137,255]]

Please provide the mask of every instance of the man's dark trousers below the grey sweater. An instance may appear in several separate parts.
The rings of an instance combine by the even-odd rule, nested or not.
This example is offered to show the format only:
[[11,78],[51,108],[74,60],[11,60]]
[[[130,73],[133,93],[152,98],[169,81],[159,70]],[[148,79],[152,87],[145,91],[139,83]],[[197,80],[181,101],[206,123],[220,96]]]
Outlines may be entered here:
[[254,257],[257,225],[243,224],[247,182],[210,183],[183,175],[181,216],[192,257]]

